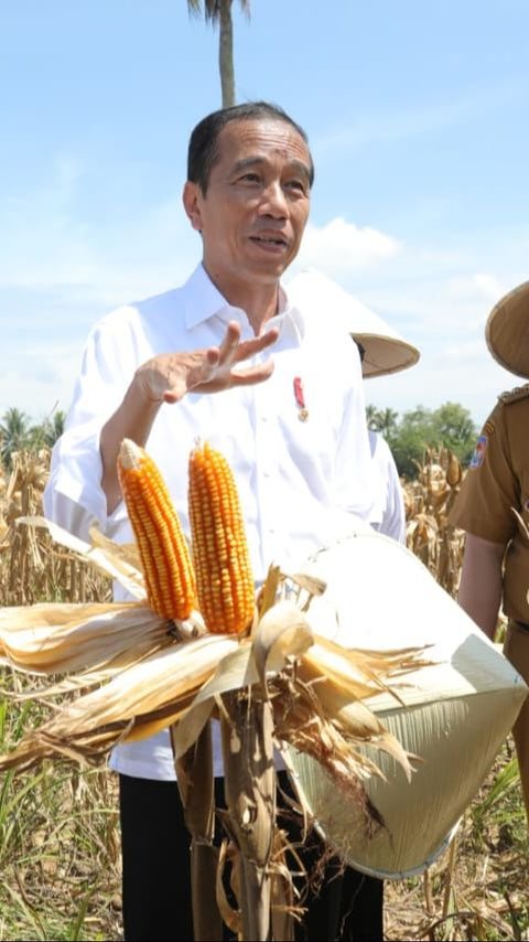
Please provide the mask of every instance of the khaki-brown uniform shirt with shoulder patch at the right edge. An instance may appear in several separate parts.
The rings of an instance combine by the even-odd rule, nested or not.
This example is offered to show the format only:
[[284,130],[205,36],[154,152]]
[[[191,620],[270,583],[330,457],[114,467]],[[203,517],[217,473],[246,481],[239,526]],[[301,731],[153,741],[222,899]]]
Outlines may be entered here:
[[450,523],[507,546],[504,612],[529,623],[529,384],[499,396],[477,439]]

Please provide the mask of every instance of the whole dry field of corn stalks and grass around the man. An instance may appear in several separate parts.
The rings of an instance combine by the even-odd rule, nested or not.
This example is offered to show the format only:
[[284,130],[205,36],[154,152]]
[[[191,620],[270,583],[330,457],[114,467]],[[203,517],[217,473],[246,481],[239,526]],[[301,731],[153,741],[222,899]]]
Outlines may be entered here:
[[[0,474],[0,603],[104,600],[110,586],[43,533],[14,526],[37,513],[48,456],[20,454]],[[462,472],[441,450],[406,485],[408,546],[455,596],[463,534],[446,515]],[[3,485],[2,485],[3,480]],[[3,671],[4,689],[13,678]],[[0,748],[34,704],[0,704]],[[453,848],[425,875],[386,884],[387,940],[529,939],[529,843],[510,739],[464,815]],[[0,782],[0,940],[121,939],[116,779],[66,763]]]

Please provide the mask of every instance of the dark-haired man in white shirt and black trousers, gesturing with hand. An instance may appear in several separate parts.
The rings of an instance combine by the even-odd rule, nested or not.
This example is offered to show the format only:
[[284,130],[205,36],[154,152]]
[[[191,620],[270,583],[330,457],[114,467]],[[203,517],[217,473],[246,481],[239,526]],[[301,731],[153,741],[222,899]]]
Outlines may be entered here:
[[[369,517],[359,358],[280,287],[309,217],[304,131],[267,103],[216,111],[191,136],[187,171],[183,203],[202,264],[183,287],[119,308],[91,331],[45,513],[85,537],[98,521],[130,540],[116,458],[131,438],[160,467],[188,531],[187,460],[199,436],[234,469],[261,580],[270,563],[299,564]],[[125,938],[192,939],[188,835],[168,732],[118,747],[111,768],[120,777]],[[336,929],[321,913],[313,924],[311,907],[300,939],[357,938],[337,928],[350,901],[330,902],[325,920]]]

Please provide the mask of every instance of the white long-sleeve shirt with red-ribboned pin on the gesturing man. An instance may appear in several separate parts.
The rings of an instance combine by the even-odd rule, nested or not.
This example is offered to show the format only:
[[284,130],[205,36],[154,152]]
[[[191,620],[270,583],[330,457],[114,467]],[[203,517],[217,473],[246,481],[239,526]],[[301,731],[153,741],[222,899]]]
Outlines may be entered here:
[[[350,532],[354,522],[367,521],[374,501],[356,347],[343,342],[343,333],[309,322],[283,302],[273,318],[278,342],[252,361],[271,355],[272,376],[259,385],[188,394],[162,406],[147,445],[187,533],[187,461],[196,437],[226,456],[257,581],[271,563],[298,567]],[[65,432],[53,450],[44,493],[48,518],[84,538],[96,520],[117,542],[132,539],[125,504],[107,517],[100,430],[139,365],[160,353],[218,345],[230,320],[239,321],[244,340],[253,336],[246,313],[226,302],[201,265],[183,287],[119,308],[95,325]],[[118,587],[116,599],[125,597]],[[168,734],[119,746],[111,766],[126,774],[174,778]]]

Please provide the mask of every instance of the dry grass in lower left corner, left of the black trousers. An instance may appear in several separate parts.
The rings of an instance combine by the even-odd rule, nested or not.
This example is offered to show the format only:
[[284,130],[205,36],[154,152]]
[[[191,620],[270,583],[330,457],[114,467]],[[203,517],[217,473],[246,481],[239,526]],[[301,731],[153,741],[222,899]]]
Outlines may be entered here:
[[120,939],[115,781],[44,767],[0,793],[0,938]]

